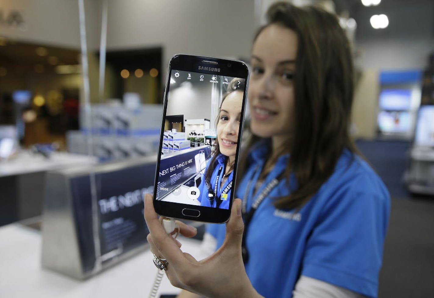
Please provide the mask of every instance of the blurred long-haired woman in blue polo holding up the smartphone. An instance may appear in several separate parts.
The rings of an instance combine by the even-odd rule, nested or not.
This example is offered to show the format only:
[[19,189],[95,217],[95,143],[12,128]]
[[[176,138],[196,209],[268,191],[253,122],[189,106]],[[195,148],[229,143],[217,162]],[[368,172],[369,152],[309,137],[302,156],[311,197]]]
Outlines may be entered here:
[[210,228],[220,248],[196,262],[164,233],[148,196],[151,249],[173,285],[209,298],[376,297],[390,198],[349,137],[348,40],[314,7],[276,3],[267,19],[252,50],[243,206],[234,201],[226,231]]

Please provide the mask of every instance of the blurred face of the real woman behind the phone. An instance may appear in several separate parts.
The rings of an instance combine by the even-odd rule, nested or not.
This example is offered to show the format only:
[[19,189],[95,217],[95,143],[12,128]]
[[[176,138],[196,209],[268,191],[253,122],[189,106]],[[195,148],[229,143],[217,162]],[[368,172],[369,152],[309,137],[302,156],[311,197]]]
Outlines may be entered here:
[[291,138],[298,38],[293,30],[272,24],[253,44],[249,84],[250,128],[257,136]]

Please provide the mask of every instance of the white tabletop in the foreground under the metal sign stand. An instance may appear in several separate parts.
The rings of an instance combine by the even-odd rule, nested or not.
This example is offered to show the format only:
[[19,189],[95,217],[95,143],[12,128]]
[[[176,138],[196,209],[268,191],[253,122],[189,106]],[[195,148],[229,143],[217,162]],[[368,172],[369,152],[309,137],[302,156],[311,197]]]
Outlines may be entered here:
[[[147,250],[85,281],[59,275],[41,267],[42,237],[39,231],[18,223],[0,228],[0,296],[7,298],[120,298],[148,297],[157,268]],[[181,249],[201,257],[201,242],[178,238]],[[163,277],[161,294],[177,294]]]

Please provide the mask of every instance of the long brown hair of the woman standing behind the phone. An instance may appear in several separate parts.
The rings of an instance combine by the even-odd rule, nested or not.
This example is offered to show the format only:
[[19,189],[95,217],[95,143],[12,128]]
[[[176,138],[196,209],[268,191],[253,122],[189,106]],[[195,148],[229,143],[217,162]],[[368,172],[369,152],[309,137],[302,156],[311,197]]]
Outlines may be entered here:
[[[349,136],[353,98],[353,66],[349,41],[337,17],[317,7],[274,3],[266,13],[267,24],[293,30],[298,37],[294,76],[295,132],[284,172],[294,173],[297,188],[276,198],[281,209],[301,208],[332,175],[344,148],[356,152]],[[246,148],[260,138],[252,136]],[[248,152],[247,152],[248,153]],[[268,157],[267,157],[268,158]],[[248,166],[247,154],[240,170]]]

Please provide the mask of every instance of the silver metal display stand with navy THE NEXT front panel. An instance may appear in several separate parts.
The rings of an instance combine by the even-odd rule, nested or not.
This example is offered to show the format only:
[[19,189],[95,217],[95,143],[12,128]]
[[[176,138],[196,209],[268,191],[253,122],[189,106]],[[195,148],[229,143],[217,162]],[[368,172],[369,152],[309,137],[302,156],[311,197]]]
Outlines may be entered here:
[[148,248],[143,197],[153,192],[155,162],[146,157],[47,173],[42,266],[85,279]]

